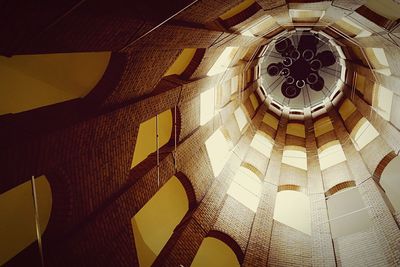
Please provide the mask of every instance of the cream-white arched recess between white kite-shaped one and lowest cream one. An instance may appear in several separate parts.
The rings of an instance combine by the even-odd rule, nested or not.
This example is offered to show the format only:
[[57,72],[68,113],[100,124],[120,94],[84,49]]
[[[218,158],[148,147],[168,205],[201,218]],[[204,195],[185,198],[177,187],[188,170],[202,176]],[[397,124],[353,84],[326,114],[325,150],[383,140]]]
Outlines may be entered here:
[[254,172],[240,167],[227,194],[256,212],[261,196],[261,181]]

